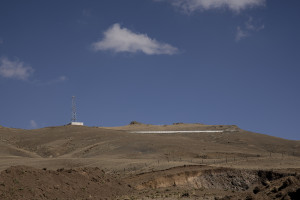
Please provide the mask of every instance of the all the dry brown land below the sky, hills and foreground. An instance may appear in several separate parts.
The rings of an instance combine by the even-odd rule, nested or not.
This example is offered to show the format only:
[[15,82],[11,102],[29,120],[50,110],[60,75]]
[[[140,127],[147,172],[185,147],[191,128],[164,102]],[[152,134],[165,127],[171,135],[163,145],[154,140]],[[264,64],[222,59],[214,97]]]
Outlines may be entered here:
[[[224,130],[138,134],[131,131]],[[0,199],[299,199],[300,141],[234,125],[0,126]]]

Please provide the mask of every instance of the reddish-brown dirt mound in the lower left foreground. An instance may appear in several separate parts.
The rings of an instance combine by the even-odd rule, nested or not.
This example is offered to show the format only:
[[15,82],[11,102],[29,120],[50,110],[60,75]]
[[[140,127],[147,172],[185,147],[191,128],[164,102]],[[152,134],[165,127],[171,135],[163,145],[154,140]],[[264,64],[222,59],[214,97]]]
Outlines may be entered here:
[[132,190],[99,168],[34,169],[11,167],[1,172],[0,199],[106,199]]

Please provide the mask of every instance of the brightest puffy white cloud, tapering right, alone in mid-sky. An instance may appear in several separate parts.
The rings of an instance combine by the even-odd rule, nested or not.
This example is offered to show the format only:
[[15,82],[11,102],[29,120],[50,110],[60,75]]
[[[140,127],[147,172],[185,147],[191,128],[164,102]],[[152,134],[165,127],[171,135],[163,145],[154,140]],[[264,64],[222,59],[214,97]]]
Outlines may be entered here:
[[143,52],[147,55],[167,54],[173,55],[178,52],[176,47],[166,43],[160,43],[149,38],[146,34],[134,33],[120,24],[112,25],[104,32],[101,41],[92,44],[96,51],[111,50],[113,52]]

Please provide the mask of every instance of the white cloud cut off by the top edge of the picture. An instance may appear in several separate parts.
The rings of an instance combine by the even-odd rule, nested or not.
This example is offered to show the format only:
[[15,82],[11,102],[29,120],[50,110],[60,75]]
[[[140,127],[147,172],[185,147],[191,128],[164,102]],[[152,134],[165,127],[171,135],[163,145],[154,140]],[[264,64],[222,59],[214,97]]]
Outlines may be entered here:
[[[158,0],[155,0],[158,1]],[[179,7],[184,12],[191,13],[197,10],[211,10],[227,8],[239,12],[241,10],[263,6],[266,0],[159,0],[168,1],[173,6]]]

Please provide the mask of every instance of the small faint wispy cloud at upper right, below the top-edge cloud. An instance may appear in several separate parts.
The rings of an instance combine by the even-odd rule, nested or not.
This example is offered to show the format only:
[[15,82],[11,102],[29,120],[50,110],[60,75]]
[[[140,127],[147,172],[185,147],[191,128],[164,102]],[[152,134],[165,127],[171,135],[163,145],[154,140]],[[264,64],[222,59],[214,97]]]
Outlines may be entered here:
[[255,32],[263,30],[264,28],[265,25],[258,25],[257,23],[254,23],[253,18],[249,17],[243,27],[238,26],[236,28],[235,41],[238,42],[246,37],[251,36]]

